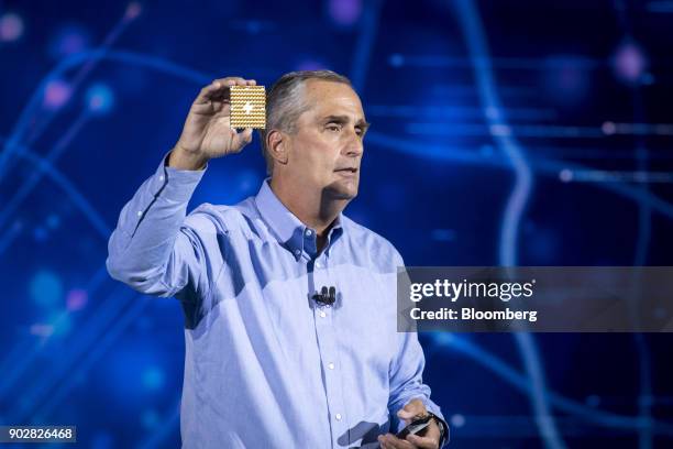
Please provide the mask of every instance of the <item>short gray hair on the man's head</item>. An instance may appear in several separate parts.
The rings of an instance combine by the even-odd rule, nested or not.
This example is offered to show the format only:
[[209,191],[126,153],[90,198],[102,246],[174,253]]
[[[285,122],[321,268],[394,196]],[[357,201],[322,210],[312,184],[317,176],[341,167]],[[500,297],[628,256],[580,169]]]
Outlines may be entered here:
[[280,130],[288,134],[297,131],[297,119],[311,107],[304,98],[304,88],[309,79],[342,83],[353,87],[349,78],[332,70],[290,72],[274,83],[266,95],[266,129],[260,130],[267,175],[273,172],[274,158],[266,147],[266,136],[272,130]]

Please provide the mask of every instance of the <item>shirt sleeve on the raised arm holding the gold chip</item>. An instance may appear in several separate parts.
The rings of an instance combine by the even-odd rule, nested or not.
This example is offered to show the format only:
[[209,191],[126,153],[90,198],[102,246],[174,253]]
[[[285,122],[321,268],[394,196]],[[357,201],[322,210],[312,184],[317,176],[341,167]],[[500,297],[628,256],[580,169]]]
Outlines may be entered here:
[[186,287],[206,294],[205,248],[196,229],[185,226],[206,168],[180,171],[165,161],[123,207],[106,265],[113,278],[148,295],[175,296]]

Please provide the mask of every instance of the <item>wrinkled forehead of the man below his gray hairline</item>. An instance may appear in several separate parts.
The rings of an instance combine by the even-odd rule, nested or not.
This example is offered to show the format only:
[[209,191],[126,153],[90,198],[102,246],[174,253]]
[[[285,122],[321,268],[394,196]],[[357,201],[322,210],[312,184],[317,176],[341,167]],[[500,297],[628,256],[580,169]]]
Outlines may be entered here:
[[322,79],[309,79],[304,87],[304,99],[310,116],[349,116],[364,120],[360,97],[349,85]]

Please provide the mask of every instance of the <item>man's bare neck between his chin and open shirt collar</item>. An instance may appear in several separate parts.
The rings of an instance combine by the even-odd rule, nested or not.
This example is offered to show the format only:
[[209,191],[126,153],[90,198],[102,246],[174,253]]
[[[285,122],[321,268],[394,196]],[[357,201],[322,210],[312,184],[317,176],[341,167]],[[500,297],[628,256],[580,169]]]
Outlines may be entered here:
[[272,177],[271,188],[280,202],[304,225],[324,239],[332,223],[349,204],[349,199],[330,197],[324,190],[310,191],[296,184]]

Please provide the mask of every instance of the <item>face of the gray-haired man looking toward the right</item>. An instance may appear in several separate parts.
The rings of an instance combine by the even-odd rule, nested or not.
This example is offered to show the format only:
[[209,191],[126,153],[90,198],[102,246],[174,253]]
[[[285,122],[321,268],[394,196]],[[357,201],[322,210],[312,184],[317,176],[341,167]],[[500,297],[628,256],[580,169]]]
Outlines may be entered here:
[[297,187],[320,190],[327,199],[357,195],[365,121],[357,94],[341,83],[309,79],[305,100],[310,105],[289,135],[287,175]]

